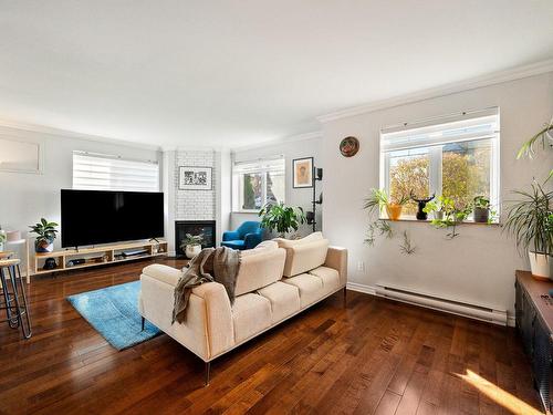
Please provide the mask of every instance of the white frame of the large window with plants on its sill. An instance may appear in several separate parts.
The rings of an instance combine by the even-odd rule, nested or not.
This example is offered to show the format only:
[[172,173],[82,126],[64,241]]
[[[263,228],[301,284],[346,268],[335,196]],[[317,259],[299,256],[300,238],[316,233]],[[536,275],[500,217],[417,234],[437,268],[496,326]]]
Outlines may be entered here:
[[[451,123],[451,120],[476,120],[479,117],[478,114],[491,114],[497,117],[497,129],[493,134],[482,136],[480,138],[472,139],[458,139],[451,141],[449,143],[470,143],[479,139],[490,139],[491,142],[491,155],[490,155],[490,205],[494,211],[494,217],[492,218],[492,224],[499,224],[500,218],[500,135],[501,135],[501,117],[500,117],[500,108],[491,107],[480,111],[472,112],[463,112],[461,114],[451,114],[446,116],[432,117],[419,122],[414,123],[403,123],[400,126],[393,127],[383,127],[379,131],[379,188],[386,190],[389,195],[389,185],[390,185],[390,154],[394,151],[398,149],[383,149],[383,136],[386,135],[384,133],[386,129],[395,129],[397,132],[407,132],[413,129],[418,129],[422,127],[437,127],[439,125],[447,125]],[[419,126],[418,126],[419,125]],[[445,128],[444,128],[445,129]],[[444,156],[444,146],[446,144],[428,144],[422,143],[419,146],[410,146],[409,148],[427,148],[428,157],[429,157],[429,172],[428,172],[428,187],[429,195],[436,194],[436,196],[441,195],[442,191],[442,156]],[[379,212],[379,219],[387,220],[388,217],[385,212]],[[405,221],[420,221],[415,216],[405,216],[403,215],[399,220]],[[430,219],[428,219],[430,220]],[[469,219],[465,220],[465,222],[472,224],[472,215]]]

